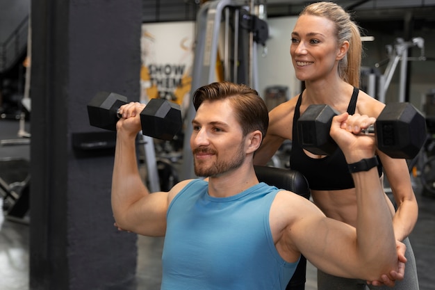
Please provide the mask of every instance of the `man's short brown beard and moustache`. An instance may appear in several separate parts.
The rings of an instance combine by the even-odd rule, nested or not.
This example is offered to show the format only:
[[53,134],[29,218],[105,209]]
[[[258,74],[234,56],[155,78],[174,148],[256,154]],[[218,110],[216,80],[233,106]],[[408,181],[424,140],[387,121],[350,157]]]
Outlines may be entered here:
[[[209,152],[215,154],[215,150],[207,149],[207,148],[196,148],[193,150],[193,154],[195,152]],[[243,143],[240,145],[238,152],[232,156],[232,158],[227,159],[225,161],[215,161],[209,167],[201,166],[201,161],[197,161],[194,159],[195,166],[195,175],[199,177],[215,177],[217,175],[221,175],[222,173],[228,172],[229,170],[233,170],[239,168],[243,162],[245,161],[245,153],[243,152]]]

